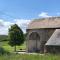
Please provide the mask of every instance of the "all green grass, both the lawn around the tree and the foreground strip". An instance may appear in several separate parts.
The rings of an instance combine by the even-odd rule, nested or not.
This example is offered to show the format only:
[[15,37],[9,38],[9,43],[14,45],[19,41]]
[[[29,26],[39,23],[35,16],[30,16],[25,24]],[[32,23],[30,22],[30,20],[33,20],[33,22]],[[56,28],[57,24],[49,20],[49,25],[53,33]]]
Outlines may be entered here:
[[[15,54],[14,47],[8,45],[8,41],[0,42],[0,46],[6,51],[11,52],[10,54],[0,55],[0,60],[60,60],[60,54]],[[17,51],[20,49],[26,49],[26,42],[21,46],[17,46]]]

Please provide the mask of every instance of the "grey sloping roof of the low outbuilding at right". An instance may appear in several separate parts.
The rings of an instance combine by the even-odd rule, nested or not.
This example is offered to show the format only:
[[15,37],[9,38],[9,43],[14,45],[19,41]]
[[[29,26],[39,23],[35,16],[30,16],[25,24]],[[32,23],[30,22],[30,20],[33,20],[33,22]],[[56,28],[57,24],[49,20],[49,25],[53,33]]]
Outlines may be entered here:
[[56,29],[45,45],[60,46],[60,29]]

